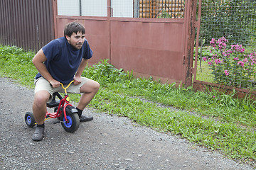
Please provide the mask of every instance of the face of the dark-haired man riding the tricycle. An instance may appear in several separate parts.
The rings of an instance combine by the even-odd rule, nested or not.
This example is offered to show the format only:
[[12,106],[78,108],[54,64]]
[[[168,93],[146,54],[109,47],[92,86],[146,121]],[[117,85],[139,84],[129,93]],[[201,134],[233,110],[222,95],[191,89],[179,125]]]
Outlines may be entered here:
[[68,43],[77,50],[80,50],[83,42],[85,42],[85,34],[82,34],[81,32],[73,33],[70,37],[65,35],[65,37],[67,38]]

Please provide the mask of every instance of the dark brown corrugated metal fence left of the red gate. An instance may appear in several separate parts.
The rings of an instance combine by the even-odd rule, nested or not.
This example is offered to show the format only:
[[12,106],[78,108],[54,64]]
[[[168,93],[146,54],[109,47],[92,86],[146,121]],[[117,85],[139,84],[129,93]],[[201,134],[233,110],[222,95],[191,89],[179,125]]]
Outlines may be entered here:
[[53,0],[1,0],[0,44],[37,51],[53,40]]

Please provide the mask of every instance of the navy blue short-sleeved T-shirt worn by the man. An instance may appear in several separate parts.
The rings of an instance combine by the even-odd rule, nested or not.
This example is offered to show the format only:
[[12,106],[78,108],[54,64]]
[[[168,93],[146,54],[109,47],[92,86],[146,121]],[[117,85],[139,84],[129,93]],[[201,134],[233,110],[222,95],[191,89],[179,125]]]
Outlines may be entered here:
[[[46,68],[53,79],[63,84],[68,84],[73,80],[75,73],[82,61],[92,57],[92,50],[85,40],[80,50],[75,49],[65,37],[50,41],[43,48],[46,55]],[[42,77],[40,73],[36,74],[36,79]]]

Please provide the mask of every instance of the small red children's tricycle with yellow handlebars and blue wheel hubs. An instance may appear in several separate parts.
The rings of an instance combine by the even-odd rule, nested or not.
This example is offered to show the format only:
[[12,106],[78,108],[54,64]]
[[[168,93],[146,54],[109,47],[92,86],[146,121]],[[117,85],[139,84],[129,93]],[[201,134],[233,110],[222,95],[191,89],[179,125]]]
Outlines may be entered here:
[[[70,82],[70,84],[72,83],[73,81]],[[78,130],[79,128],[80,119],[78,116],[78,110],[70,104],[70,98],[67,94],[67,89],[70,84],[68,84],[66,87],[61,84],[65,91],[64,98],[58,92],[55,92],[53,94],[53,99],[46,104],[48,108],[54,108],[54,113],[49,113],[46,111],[45,121],[50,118],[58,118],[65,131],[75,132],[75,130]],[[56,101],[56,96],[60,100]],[[36,120],[33,116],[33,113],[27,112],[25,114],[25,122],[30,128],[33,128],[33,126],[36,125]]]

